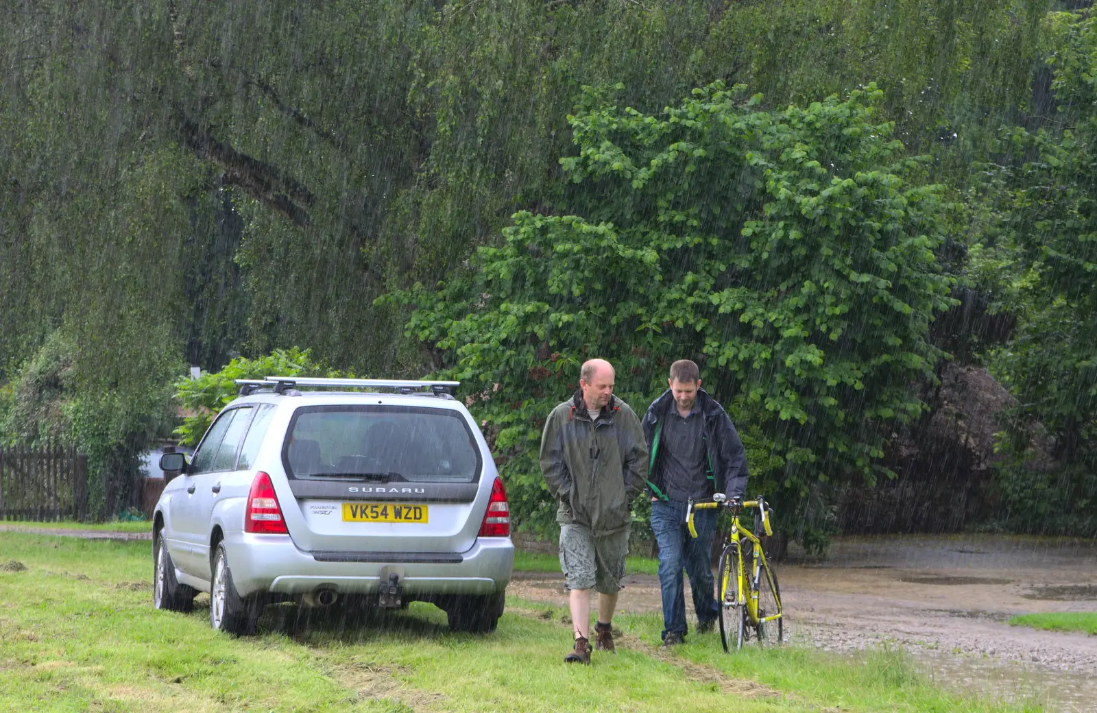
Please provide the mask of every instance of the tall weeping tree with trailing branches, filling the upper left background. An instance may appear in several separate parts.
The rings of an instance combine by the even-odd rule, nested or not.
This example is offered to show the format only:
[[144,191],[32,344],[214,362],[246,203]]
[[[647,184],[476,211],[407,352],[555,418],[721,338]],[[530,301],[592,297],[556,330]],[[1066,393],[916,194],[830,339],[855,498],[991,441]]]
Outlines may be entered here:
[[[1041,3],[180,0],[4,11],[0,363],[68,321],[160,322],[213,366],[299,342],[387,367],[380,292],[566,199],[585,84],[658,112],[713,80],[781,106],[874,81],[964,165],[1033,107]],[[1036,107],[1038,111],[1040,107]],[[140,331],[137,329],[136,331]],[[81,339],[81,341],[88,341]]]

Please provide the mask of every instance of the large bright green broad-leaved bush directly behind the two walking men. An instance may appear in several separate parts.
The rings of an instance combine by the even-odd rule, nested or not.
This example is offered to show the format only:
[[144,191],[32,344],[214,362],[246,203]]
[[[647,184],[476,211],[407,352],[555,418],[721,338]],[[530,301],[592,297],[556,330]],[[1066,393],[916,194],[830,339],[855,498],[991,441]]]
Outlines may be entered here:
[[640,411],[671,361],[698,361],[751,446],[751,490],[807,525],[821,483],[889,475],[951,280],[934,254],[941,188],[874,118],[880,98],[762,111],[717,82],[653,116],[592,91],[562,160],[584,217],[518,213],[471,274],[392,297],[497,430],[519,516],[551,510],[540,428],[591,356]]

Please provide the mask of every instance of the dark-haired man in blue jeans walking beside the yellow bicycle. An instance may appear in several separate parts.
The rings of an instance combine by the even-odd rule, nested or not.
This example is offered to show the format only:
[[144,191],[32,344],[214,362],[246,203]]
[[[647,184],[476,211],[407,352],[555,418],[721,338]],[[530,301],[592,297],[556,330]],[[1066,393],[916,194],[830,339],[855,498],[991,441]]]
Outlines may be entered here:
[[712,631],[720,615],[709,562],[717,511],[694,513],[693,539],[686,521],[688,501],[710,500],[715,493],[742,500],[748,475],[739,434],[723,407],[701,389],[697,364],[676,361],[667,382],[670,388],[652,403],[643,423],[651,453],[652,531],[659,545],[664,647],[681,644],[687,632],[682,567],[693,590],[698,632]]

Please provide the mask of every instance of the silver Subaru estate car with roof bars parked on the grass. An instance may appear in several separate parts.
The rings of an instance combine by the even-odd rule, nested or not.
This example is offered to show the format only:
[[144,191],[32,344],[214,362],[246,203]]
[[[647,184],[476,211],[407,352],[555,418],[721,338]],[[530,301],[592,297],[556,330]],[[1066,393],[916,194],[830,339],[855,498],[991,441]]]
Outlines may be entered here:
[[157,609],[189,611],[210,592],[213,627],[250,634],[272,602],[427,601],[455,631],[495,631],[514,562],[509,508],[455,382],[237,383],[190,462],[161,457]]

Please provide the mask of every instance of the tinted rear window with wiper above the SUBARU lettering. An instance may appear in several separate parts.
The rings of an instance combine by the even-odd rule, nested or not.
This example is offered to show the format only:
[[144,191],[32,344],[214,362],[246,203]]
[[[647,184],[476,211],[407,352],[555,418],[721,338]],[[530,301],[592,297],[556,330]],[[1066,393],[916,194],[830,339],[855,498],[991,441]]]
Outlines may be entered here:
[[457,411],[400,406],[306,406],[282,448],[299,479],[474,483],[482,460]]

